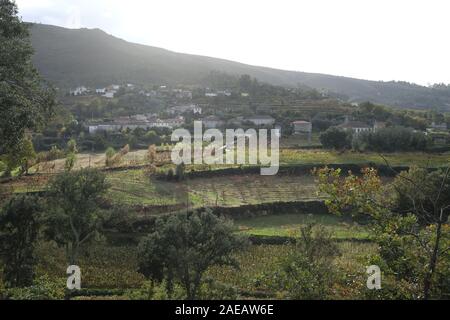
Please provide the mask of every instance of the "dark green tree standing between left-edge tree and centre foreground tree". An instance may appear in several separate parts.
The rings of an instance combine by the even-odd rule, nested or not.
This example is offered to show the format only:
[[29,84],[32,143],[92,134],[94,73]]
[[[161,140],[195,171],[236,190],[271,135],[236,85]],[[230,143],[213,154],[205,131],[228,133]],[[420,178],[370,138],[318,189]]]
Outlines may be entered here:
[[76,264],[81,247],[101,232],[106,216],[99,202],[108,187],[106,176],[96,169],[64,172],[50,182],[46,234],[66,248],[71,264]]

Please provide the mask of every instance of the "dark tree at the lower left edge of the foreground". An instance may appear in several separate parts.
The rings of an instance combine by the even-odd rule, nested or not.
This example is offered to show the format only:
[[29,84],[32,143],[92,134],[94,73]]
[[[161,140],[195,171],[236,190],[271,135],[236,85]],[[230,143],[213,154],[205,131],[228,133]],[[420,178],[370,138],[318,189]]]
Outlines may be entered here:
[[35,243],[40,228],[39,200],[33,196],[16,196],[0,212],[0,258],[9,287],[33,283]]

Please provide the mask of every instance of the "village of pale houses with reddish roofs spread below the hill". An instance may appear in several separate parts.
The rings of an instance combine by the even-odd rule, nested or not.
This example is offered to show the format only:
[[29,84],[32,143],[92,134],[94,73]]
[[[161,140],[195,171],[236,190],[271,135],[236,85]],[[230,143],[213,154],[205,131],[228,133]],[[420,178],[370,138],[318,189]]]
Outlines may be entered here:
[[[267,107],[267,104],[260,104],[253,107],[253,111],[246,115],[236,114],[236,101],[246,104],[252,101],[250,93],[242,90],[230,89],[211,89],[205,88],[183,88],[169,87],[166,85],[155,85],[151,89],[142,86],[125,83],[122,85],[111,84],[101,88],[90,88],[79,86],[70,89],[68,95],[73,98],[94,98],[103,101],[113,101],[124,95],[140,96],[145,99],[157,99],[164,101],[166,109],[159,112],[135,113],[129,115],[116,116],[113,118],[94,118],[86,119],[82,122],[85,130],[91,134],[99,132],[121,132],[123,130],[133,131],[142,129],[145,131],[155,129],[166,129],[172,131],[177,128],[192,128],[193,121],[201,121],[205,129],[226,129],[226,128],[274,128],[278,129],[282,136],[301,137],[307,144],[313,143],[313,133],[323,131],[320,128],[320,116],[323,113],[310,112],[314,107],[302,107],[297,119],[286,121],[280,115],[276,116],[276,110]],[[324,94],[322,94],[324,95]],[[324,95],[326,96],[326,95]],[[231,106],[227,105],[230,103]],[[338,108],[344,110],[344,107],[338,100],[335,101]],[[224,107],[225,106],[225,107]],[[358,108],[359,103],[350,103],[350,108]],[[308,112],[309,111],[309,112]],[[298,112],[297,112],[298,113]],[[318,120],[319,119],[319,120]],[[337,112],[334,119],[331,120],[336,128],[360,134],[364,132],[376,132],[386,128],[386,121],[370,120],[363,121],[357,119],[351,112]],[[319,128],[314,124],[319,123]],[[395,124],[394,124],[395,125]],[[418,131],[417,128],[414,128]],[[439,145],[446,145],[449,141],[449,132],[447,123],[431,121],[421,130],[425,135]],[[317,139],[316,139],[317,142]]]

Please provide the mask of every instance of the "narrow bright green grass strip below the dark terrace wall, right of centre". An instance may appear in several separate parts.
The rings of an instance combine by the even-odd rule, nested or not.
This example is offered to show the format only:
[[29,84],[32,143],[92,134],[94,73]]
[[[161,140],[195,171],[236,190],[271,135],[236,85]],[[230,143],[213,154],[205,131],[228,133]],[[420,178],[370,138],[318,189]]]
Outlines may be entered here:
[[248,235],[290,237],[298,235],[307,223],[323,225],[336,239],[367,239],[369,230],[333,215],[283,214],[236,220],[240,232]]

